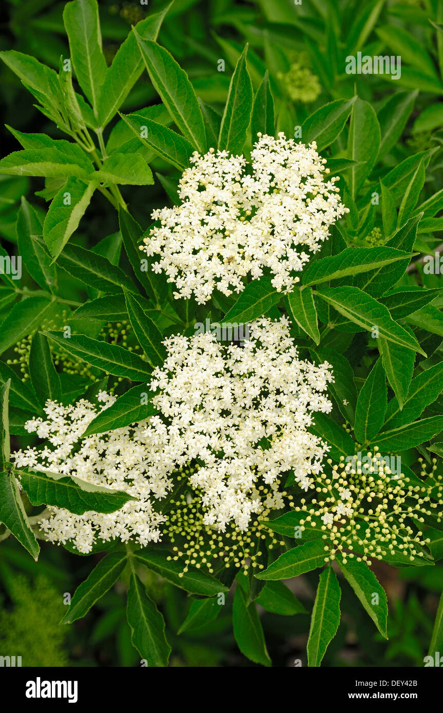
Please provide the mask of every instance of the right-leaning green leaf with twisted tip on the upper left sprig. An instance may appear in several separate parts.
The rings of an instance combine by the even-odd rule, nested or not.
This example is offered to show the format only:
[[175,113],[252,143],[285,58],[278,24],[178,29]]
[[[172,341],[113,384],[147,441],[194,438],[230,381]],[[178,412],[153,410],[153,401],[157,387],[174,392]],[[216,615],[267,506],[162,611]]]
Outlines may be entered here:
[[[157,39],[163,18],[170,6],[171,4],[136,24],[136,31],[143,39]],[[118,48],[111,66],[106,70],[98,93],[98,123],[102,128],[111,121],[142,72],[143,59],[136,36],[130,32]]]

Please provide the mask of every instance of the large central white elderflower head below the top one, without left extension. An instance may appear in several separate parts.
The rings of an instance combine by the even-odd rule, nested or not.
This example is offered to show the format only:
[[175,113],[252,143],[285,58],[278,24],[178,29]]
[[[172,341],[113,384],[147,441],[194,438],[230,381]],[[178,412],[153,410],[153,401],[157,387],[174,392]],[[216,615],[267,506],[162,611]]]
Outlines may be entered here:
[[[302,488],[320,473],[327,446],[307,431],[312,413],[329,413],[332,375],[325,362],[298,359],[284,317],[250,324],[243,347],[220,344],[213,334],[166,339],[168,357],[153,371],[153,404],[168,419],[170,443],[200,468],[189,478],[201,491],[205,524],[248,528],[268,485],[293,471]],[[154,416],[148,429],[158,429]],[[277,498],[277,493],[275,493]],[[274,508],[282,506],[276,503]]]

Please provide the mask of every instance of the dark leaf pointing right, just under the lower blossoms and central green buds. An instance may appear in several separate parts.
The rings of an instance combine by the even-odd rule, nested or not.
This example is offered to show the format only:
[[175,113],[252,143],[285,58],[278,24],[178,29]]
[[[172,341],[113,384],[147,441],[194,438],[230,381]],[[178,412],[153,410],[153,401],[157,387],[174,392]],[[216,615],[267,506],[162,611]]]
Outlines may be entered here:
[[[141,562],[148,570],[158,573],[176,587],[185,589],[191,594],[200,594],[203,597],[213,597],[215,594],[227,592],[228,589],[211,575],[190,567],[183,573],[184,563],[173,560],[171,553],[160,546],[144,547],[133,553],[134,558]],[[168,557],[170,559],[168,559]]]

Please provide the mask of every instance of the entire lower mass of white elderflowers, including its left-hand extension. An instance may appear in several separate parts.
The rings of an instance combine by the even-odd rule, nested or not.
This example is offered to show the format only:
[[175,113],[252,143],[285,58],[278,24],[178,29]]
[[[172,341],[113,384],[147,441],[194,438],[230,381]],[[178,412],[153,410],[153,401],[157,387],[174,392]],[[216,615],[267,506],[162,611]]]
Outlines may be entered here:
[[[322,472],[328,448],[307,427],[313,412],[332,408],[324,393],[330,365],[298,359],[287,319],[256,320],[243,347],[220,344],[213,334],[176,335],[164,343],[168,356],[151,381],[159,414],[148,421],[83,438],[77,451],[74,443],[96,415],[88,401],[49,401],[48,420],[28,422],[28,431],[51,447],[17,451],[18,468],[75,475],[136,498],[111,514],[51,507],[42,521],[49,540],[73,540],[81,552],[96,538],[158,540],[166,517],[153,510],[153,498],[164,498],[173,473],[189,463],[195,464],[189,486],[201,498],[205,525],[217,530],[228,523],[245,530],[253,513],[281,508],[277,481],[283,476],[284,483],[290,471],[305,489]],[[100,396],[105,408],[113,402]],[[270,486],[265,497],[260,483]]]

